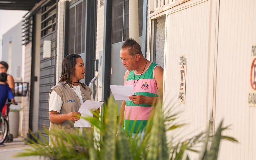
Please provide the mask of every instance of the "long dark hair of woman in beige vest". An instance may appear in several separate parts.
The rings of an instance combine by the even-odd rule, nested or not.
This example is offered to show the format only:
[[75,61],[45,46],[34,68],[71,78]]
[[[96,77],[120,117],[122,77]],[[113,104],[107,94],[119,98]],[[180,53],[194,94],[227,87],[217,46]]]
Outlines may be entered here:
[[[59,83],[68,84],[71,87],[71,77],[75,74],[77,58],[81,58],[81,56],[79,54],[69,54],[62,60]],[[85,88],[85,84],[81,83],[80,80],[78,80],[78,83]]]

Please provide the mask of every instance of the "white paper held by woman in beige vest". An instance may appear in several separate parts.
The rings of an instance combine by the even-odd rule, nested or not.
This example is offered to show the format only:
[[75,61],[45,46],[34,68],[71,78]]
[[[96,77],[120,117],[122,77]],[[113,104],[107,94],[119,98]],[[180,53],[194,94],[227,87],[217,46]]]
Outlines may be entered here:
[[75,121],[74,127],[86,127],[90,128],[91,123],[87,120],[83,119],[82,117],[92,117],[93,113],[91,110],[96,110],[102,106],[104,102],[97,102],[92,100],[86,100],[81,107],[79,108],[78,112],[81,114],[81,118],[78,121]]

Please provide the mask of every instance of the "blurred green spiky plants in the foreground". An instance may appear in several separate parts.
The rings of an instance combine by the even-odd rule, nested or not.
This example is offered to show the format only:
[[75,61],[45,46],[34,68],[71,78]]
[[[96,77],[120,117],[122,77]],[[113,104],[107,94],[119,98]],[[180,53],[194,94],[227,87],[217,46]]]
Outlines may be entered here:
[[[193,138],[175,143],[175,138],[167,141],[166,131],[175,130],[185,124],[177,124],[176,120],[179,113],[163,116],[162,104],[157,103],[154,108],[152,118],[148,121],[145,134],[134,136],[128,132],[124,132],[117,120],[117,108],[113,97],[110,97],[108,104],[103,107],[103,117],[100,115],[101,121],[97,118],[86,118],[95,128],[94,133],[87,133],[87,137],[82,134],[66,133],[56,131],[55,136],[58,137],[54,148],[49,147],[49,143],[41,136],[43,141],[37,137],[30,140],[29,144],[32,149],[26,149],[24,152],[16,156],[43,156],[53,159],[90,159],[90,160],[181,160],[186,156],[186,150],[199,152],[194,146],[201,144],[201,153],[198,159],[213,160],[217,159],[219,152],[219,143],[221,139],[227,139],[237,142],[234,138],[222,136],[221,132],[227,127],[222,128],[219,125],[216,134],[209,136],[209,131],[201,132]],[[96,113],[94,113],[96,114]],[[102,135],[100,137],[99,135]],[[140,140],[141,139],[141,140]],[[211,143],[211,147],[209,146]],[[186,156],[186,159],[189,159]]]

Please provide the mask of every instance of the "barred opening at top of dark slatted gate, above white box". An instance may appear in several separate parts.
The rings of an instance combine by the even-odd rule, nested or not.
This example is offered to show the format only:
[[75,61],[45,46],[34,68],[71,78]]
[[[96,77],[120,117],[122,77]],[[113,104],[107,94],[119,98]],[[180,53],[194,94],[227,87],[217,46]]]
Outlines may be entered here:
[[56,30],[56,2],[50,1],[41,10],[41,37],[44,37]]

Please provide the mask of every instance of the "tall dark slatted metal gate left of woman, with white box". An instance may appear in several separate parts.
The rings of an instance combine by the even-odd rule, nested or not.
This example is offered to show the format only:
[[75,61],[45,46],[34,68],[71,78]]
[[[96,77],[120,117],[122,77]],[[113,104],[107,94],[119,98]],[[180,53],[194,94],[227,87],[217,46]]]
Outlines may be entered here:
[[[55,85],[56,75],[56,6],[57,2],[52,0],[46,2],[41,7],[38,131],[41,132],[46,139],[48,139],[48,135],[45,133],[45,129],[49,130],[50,123],[48,95],[51,87]],[[51,54],[47,56],[44,54],[44,41],[51,41]]]

